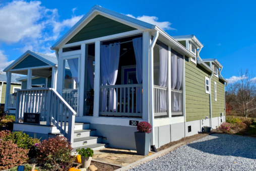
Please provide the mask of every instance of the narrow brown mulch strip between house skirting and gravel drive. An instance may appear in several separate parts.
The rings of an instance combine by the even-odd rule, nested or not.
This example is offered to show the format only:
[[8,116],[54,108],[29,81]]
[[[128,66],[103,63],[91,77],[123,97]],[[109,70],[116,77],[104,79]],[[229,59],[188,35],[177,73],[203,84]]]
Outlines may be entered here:
[[192,142],[192,141],[196,141],[196,140],[201,139],[201,138],[203,138],[205,136],[208,136],[208,135],[209,135],[208,133],[199,133],[199,134],[192,135],[192,136],[189,136],[189,137],[184,137],[184,138],[181,138],[177,141],[172,141],[172,142],[169,142],[168,144],[162,145],[160,148],[157,148],[157,151],[164,150],[164,149],[169,148],[170,146],[173,146],[173,145],[178,144],[180,142],[189,143],[189,142]]

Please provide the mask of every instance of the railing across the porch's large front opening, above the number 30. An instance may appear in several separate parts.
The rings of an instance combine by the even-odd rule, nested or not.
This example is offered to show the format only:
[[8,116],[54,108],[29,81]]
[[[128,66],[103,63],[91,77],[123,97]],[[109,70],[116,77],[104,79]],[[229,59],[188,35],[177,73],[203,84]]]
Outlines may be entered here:
[[101,85],[100,116],[142,117],[142,93],[142,84]]

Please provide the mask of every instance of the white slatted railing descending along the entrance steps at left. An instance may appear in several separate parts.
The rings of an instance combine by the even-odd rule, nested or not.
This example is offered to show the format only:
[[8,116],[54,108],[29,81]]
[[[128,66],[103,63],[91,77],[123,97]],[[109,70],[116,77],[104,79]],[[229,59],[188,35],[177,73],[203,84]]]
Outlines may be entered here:
[[[17,91],[16,117],[24,119],[24,113],[39,113],[40,121],[53,125],[63,136],[74,141],[74,109],[54,89],[22,89]],[[68,127],[68,129],[67,129]]]

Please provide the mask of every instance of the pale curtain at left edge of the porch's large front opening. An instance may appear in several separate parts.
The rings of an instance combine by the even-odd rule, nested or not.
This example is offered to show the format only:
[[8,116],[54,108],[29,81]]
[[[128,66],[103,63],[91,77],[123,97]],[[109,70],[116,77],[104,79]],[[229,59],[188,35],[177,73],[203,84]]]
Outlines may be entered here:
[[[114,85],[117,78],[118,64],[120,56],[120,43],[100,46],[101,57],[101,81],[103,85],[107,83]],[[102,105],[105,106],[106,90],[102,91]],[[113,96],[113,97],[112,97]],[[109,109],[116,111],[116,93],[114,89],[109,92]],[[103,112],[107,110],[103,108]]]

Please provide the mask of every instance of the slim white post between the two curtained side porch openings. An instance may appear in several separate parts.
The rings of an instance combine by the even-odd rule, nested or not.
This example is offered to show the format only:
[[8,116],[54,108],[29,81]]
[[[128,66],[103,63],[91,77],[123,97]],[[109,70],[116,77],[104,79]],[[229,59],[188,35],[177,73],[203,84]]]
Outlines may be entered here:
[[168,46],[168,115],[171,118],[171,47]]

